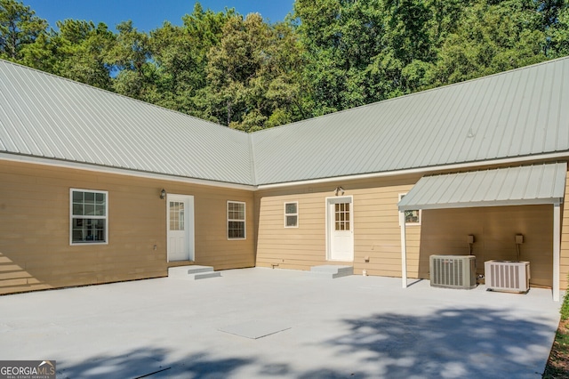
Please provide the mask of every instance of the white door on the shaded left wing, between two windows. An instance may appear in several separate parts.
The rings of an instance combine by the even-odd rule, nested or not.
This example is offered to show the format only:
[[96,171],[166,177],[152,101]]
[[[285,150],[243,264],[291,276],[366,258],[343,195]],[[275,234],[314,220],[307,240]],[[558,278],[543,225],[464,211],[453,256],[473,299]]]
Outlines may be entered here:
[[168,195],[168,262],[194,260],[194,197]]

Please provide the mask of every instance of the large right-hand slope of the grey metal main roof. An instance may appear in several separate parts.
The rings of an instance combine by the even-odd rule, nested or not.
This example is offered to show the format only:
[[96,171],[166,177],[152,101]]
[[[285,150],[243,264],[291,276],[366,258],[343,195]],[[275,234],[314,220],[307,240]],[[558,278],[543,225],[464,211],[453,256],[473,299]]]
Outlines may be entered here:
[[569,149],[569,58],[252,134],[259,184]]

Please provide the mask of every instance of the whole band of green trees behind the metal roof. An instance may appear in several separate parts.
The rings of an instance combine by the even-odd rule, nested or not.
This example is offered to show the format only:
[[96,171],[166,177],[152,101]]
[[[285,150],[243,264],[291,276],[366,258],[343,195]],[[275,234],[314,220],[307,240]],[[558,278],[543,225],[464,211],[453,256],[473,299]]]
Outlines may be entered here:
[[0,58],[252,132],[569,54],[569,0],[296,0],[282,23],[58,30],[0,0]]

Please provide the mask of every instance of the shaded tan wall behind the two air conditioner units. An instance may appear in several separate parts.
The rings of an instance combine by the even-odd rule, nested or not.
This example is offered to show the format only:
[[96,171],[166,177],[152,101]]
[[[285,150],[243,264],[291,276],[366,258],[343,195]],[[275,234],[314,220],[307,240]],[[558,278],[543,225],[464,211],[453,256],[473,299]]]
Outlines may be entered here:
[[477,274],[484,274],[484,262],[517,260],[515,236],[524,235],[520,260],[530,262],[534,286],[551,286],[553,270],[553,206],[489,206],[434,209],[423,212],[421,278],[429,278],[431,254],[469,254],[467,236],[474,235],[472,254],[477,257]]

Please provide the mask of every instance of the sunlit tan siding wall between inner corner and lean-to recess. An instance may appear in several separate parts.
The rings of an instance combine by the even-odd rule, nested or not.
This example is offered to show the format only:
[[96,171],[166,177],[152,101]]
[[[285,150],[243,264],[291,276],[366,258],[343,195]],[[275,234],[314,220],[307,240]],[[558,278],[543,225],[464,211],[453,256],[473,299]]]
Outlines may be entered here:
[[[325,206],[333,189],[353,196],[354,262],[356,274],[401,275],[401,232],[397,212],[400,193],[413,187],[418,176],[262,190],[256,194],[259,209],[257,265],[295,270],[329,264],[326,261]],[[284,228],[284,203],[298,201],[299,227]],[[421,226],[407,228],[408,270],[416,276]],[[365,257],[369,257],[365,262]],[[413,274],[414,272],[414,274]]]

